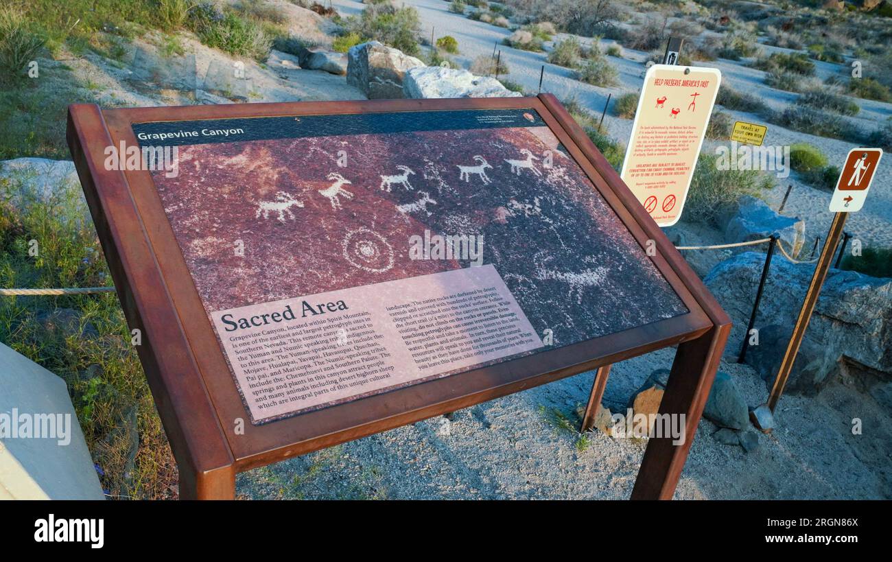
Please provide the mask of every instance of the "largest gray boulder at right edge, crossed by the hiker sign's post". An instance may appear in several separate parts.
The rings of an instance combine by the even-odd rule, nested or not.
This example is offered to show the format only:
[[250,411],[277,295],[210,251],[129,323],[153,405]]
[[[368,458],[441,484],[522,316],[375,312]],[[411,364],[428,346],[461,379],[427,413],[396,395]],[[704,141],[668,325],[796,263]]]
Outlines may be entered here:
[[[735,355],[753,309],[764,260],[761,252],[739,253],[715,266],[704,279],[734,322],[727,349]],[[814,264],[795,264],[775,255],[756,318],[760,346],[765,327],[796,322],[813,274]],[[831,360],[842,356],[849,365],[892,373],[892,278],[830,269],[805,341],[826,350]]]

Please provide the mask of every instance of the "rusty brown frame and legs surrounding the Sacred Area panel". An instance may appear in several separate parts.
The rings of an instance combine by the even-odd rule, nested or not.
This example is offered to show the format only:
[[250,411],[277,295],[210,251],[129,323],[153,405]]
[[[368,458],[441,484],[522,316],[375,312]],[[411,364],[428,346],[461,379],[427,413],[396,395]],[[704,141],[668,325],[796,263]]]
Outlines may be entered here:
[[[150,172],[103,165],[107,146],[138,145],[137,122],[506,108],[539,112],[638,244],[656,248],[650,259],[690,312],[260,426],[248,421]],[[553,95],[112,110],[76,104],[67,138],[128,324],[142,331],[137,350],[177,459],[181,498],[232,499],[238,472],[677,344],[660,412],[686,416],[686,439],[673,445],[671,437],[651,438],[632,492],[633,499],[672,498],[731,321]],[[237,419],[244,420],[241,433]]]

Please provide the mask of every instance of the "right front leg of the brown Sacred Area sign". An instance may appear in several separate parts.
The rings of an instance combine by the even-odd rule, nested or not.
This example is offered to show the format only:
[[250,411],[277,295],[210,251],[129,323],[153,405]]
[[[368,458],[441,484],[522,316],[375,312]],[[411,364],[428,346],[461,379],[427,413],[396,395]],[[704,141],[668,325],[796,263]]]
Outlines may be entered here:
[[730,322],[713,326],[696,340],[678,346],[659,413],[684,415],[684,442],[673,444],[672,436],[648,440],[632,500],[672,500],[730,332]]

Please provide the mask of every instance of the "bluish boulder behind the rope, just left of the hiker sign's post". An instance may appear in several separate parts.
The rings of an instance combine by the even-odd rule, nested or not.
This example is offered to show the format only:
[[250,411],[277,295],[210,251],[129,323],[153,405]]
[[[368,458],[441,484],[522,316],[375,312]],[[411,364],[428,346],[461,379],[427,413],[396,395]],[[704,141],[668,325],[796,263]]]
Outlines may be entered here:
[[728,242],[748,242],[777,234],[790,255],[797,255],[805,244],[805,221],[784,217],[761,199],[744,195],[736,205],[736,213],[725,227]]

